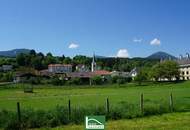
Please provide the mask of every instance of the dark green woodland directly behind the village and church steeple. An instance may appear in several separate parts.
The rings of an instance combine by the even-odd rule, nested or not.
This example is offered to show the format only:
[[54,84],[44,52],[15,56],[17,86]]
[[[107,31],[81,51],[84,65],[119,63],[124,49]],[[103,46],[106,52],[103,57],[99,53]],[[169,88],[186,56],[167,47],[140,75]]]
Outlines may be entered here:
[[[17,66],[32,67],[36,70],[47,69],[49,64],[72,64],[73,70],[78,64],[84,64],[89,69],[91,66],[92,57],[83,55],[76,55],[73,58],[62,56],[53,56],[51,53],[44,55],[43,53],[36,53],[31,50],[28,54],[18,54],[16,57]],[[152,67],[159,60],[152,60],[146,58],[96,58],[96,63],[99,69],[108,71],[124,71],[130,72],[134,67]]]

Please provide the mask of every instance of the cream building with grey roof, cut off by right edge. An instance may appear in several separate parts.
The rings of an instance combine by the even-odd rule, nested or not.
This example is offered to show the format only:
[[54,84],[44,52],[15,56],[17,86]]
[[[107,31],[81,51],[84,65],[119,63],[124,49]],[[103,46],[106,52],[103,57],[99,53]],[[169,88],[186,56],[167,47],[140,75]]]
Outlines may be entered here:
[[186,53],[186,57],[180,55],[177,60],[180,70],[180,80],[190,80],[190,56]]

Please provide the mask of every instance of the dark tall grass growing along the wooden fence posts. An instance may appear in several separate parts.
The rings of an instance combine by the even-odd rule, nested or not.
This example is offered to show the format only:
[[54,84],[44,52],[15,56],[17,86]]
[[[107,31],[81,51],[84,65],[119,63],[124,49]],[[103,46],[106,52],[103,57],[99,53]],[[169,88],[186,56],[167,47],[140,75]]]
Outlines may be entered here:
[[[181,109],[175,108],[175,111]],[[133,119],[137,117],[169,113],[170,109],[165,102],[160,104],[148,101],[142,114],[138,104],[120,102],[111,106],[110,112],[105,106],[98,107],[73,107],[71,115],[65,106],[56,106],[51,110],[24,109],[21,111],[21,122],[17,119],[17,113],[12,111],[0,111],[0,127],[5,130],[19,130],[40,127],[56,127],[68,124],[81,124],[87,115],[105,115],[107,120]]]

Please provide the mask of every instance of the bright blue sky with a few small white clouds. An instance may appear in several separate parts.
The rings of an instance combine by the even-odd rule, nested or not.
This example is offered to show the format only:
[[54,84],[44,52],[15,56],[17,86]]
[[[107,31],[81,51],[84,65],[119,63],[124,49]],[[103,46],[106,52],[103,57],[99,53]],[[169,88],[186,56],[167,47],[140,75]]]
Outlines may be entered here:
[[189,0],[0,0],[0,50],[145,57],[190,52]]

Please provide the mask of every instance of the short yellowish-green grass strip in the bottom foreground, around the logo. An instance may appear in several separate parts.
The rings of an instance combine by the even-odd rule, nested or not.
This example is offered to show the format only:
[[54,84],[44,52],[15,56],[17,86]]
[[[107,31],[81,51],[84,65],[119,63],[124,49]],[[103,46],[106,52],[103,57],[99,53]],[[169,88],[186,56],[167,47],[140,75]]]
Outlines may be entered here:
[[[172,113],[132,120],[108,121],[106,130],[189,130],[190,112]],[[84,125],[69,125],[57,128],[33,130],[84,130]]]

